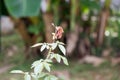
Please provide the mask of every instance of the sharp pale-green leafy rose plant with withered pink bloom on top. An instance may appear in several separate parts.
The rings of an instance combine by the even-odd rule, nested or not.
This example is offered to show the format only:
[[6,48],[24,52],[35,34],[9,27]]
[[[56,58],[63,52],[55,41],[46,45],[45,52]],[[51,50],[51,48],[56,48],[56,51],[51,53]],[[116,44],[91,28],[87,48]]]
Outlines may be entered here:
[[[54,26],[55,27],[55,26]],[[55,27],[55,32],[58,32],[59,29],[62,28],[60,27]],[[60,34],[61,33],[61,34]],[[53,37],[56,37],[56,35],[61,35],[62,36],[62,32],[60,33],[54,33],[55,35],[53,35]],[[31,65],[31,68],[33,69],[33,72],[29,73],[29,72],[23,72],[21,70],[13,70],[11,71],[11,73],[19,73],[19,74],[24,74],[24,80],[31,80],[31,77],[33,77],[34,80],[38,80],[41,78],[44,78],[44,80],[58,80],[58,78],[56,78],[53,75],[50,75],[48,72],[51,71],[51,63],[53,58],[55,58],[57,60],[58,63],[61,62],[61,59],[63,60],[63,63],[65,65],[68,65],[68,61],[65,57],[56,54],[54,52],[54,49],[57,48],[57,46],[59,47],[59,49],[62,51],[62,53],[65,55],[66,54],[66,50],[65,47],[63,46],[64,43],[57,41],[56,37],[55,39],[53,39],[53,43],[37,43],[34,44],[32,47],[38,47],[40,46],[40,51],[44,51],[45,49],[48,50],[48,54],[47,57],[45,59],[40,59],[37,61],[34,61]],[[44,72],[47,71],[47,72]]]

